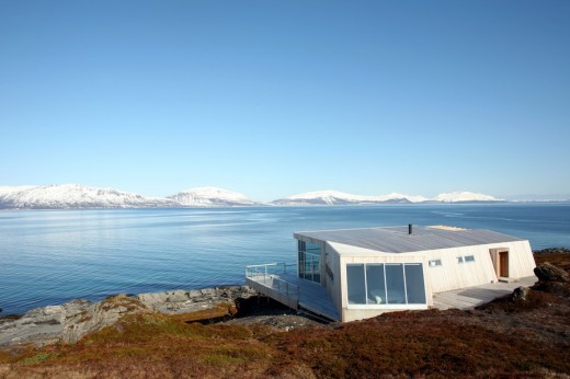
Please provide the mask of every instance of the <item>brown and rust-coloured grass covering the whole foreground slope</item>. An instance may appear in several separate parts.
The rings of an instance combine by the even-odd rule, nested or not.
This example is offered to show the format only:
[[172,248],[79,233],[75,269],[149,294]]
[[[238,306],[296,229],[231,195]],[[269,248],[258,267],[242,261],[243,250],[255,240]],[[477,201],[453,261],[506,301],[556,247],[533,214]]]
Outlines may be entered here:
[[[545,259],[570,267],[568,254]],[[128,315],[76,345],[0,351],[0,378],[570,375],[570,301],[544,288],[531,290],[526,302],[395,312],[338,328],[278,332],[192,322],[224,312],[220,305],[198,315]]]

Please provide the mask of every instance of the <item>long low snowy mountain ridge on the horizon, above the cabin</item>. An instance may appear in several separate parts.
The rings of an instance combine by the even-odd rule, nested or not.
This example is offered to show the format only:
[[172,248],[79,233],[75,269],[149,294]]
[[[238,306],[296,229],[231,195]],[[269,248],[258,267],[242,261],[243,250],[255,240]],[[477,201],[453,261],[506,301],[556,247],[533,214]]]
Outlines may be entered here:
[[453,192],[440,194],[433,198],[421,195],[391,193],[379,196],[352,195],[339,191],[315,191],[293,195],[273,200],[273,205],[303,206],[303,205],[351,205],[351,204],[410,204],[410,203],[470,203],[498,202],[489,195],[471,192]]

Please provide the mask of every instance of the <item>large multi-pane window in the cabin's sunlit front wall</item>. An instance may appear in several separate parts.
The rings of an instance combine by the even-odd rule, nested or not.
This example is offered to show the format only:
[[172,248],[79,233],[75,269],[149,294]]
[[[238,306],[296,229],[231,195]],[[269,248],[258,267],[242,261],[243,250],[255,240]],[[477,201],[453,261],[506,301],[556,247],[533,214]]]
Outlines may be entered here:
[[349,305],[425,305],[421,263],[346,264]]

